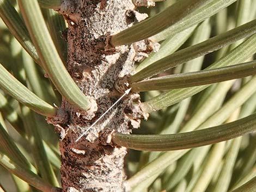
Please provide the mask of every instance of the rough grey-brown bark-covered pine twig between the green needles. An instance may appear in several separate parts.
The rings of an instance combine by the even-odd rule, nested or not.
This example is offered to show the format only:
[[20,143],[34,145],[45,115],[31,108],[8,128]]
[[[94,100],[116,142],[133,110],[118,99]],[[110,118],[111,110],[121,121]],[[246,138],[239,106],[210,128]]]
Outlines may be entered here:
[[[131,26],[139,17],[132,0],[74,1],[66,16],[68,70],[92,107],[87,112],[62,103],[65,123],[57,124],[62,154],[63,191],[126,191],[123,171],[126,148],[112,146],[113,131],[130,133],[146,116],[139,108],[139,95],[130,92],[77,143],[92,125],[128,88],[127,76],[135,60],[151,51],[147,41],[106,49],[109,35]],[[61,110],[59,111],[61,112]],[[60,113],[61,114],[61,113]],[[60,116],[59,116],[60,118]]]

